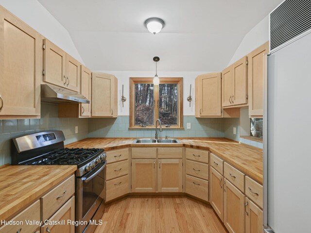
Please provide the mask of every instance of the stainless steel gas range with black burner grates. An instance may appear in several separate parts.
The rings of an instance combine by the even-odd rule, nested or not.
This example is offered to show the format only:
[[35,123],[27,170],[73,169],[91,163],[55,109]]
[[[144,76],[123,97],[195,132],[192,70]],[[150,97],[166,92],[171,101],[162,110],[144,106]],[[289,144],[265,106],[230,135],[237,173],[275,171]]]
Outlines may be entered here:
[[[65,148],[62,131],[29,134],[12,140],[12,165],[76,165],[76,233],[94,232],[104,214],[104,149]],[[89,224],[92,221],[92,224]]]

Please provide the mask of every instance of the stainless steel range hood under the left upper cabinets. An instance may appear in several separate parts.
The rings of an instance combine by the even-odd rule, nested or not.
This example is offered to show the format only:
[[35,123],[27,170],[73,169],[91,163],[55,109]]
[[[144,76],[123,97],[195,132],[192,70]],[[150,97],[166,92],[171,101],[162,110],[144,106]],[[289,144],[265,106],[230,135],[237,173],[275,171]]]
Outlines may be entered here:
[[89,100],[83,95],[48,84],[41,84],[41,101],[52,103],[89,103]]

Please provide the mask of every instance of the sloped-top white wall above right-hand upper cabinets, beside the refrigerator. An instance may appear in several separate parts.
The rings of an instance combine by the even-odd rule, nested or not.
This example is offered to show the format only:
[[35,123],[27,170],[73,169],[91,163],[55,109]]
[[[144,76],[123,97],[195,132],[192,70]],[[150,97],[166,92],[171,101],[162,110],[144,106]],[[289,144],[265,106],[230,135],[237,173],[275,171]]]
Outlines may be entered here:
[[269,17],[266,16],[251,31],[246,33],[238,49],[233,54],[228,66],[236,62],[237,60],[239,60],[252,50],[255,50],[268,40],[269,40]]

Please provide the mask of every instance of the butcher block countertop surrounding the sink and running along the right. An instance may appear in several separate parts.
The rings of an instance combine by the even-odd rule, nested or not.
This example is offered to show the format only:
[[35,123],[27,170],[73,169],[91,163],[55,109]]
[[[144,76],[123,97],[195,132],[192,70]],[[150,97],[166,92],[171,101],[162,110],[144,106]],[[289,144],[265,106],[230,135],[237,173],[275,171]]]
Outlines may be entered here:
[[136,138],[86,138],[66,145],[68,148],[104,148],[116,150],[127,147],[189,147],[210,150],[227,163],[262,184],[262,150],[227,138],[178,138],[181,143],[137,143]]

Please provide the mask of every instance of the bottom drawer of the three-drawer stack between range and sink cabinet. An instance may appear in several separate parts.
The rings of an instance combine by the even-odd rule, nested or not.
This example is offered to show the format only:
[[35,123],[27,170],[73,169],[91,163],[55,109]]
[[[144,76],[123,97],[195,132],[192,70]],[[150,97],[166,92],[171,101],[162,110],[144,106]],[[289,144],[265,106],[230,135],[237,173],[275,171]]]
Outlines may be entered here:
[[106,201],[128,193],[128,175],[106,182]]

